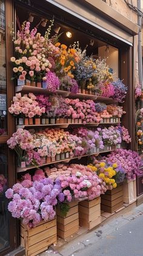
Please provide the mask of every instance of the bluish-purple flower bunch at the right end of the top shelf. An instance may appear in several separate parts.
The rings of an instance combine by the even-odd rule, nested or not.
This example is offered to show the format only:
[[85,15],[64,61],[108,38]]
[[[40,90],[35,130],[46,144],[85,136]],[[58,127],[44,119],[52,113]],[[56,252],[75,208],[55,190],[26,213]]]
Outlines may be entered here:
[[121,103],[124,102],[124,98],[127,94],[127,87],[125,87],[120,79],[113,82],[112,84],[115,90],[115,93],[113,94],[113,99]]

